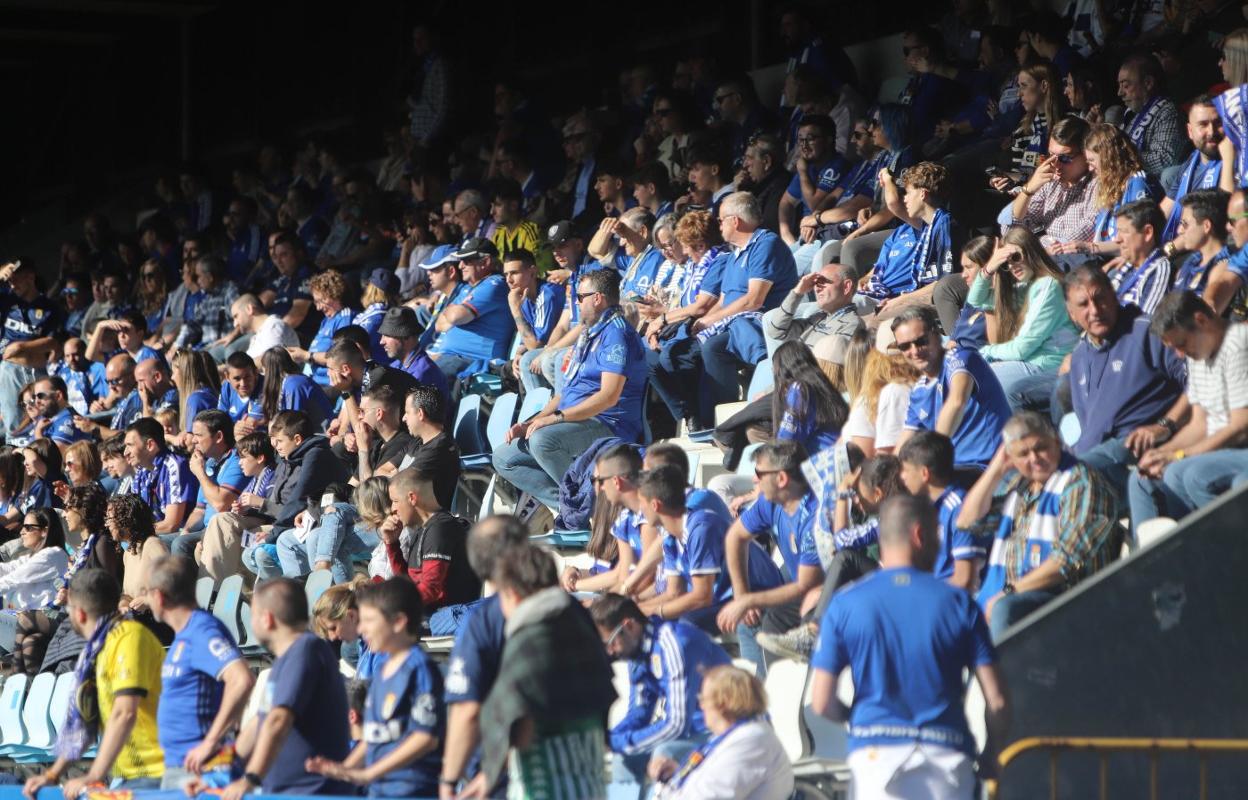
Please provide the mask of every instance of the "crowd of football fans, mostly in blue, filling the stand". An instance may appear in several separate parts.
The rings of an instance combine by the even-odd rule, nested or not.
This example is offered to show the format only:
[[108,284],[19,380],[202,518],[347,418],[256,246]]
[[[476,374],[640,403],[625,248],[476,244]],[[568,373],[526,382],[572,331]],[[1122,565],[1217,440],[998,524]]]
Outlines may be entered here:
[[[779,21],[778,102],[690,56],[463,139],[419,26],[381,160],[182,165],[2,260],[0,653],[77,688],[27,794],[780,800],[778,658],[856,796],[995,776],[993,643],[1248,480],[1248,29],[966,0],[871,105]],[[237,575],[262,685],[196,600]]]

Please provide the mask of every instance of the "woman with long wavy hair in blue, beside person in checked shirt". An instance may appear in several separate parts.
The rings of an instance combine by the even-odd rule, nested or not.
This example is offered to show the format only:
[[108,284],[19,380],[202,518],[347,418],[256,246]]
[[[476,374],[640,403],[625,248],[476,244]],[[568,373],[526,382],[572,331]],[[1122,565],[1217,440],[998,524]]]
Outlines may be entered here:
[[1137,200],[1158,200],[1161,190],[1144,175],[1136,145],[1117,127],[1101,122],[1092,126],[1083,142],[1088,170],[1096,175],[1097,217],[1091,242],[1066,242],[1063,253],[1116,256],[1118,208]]

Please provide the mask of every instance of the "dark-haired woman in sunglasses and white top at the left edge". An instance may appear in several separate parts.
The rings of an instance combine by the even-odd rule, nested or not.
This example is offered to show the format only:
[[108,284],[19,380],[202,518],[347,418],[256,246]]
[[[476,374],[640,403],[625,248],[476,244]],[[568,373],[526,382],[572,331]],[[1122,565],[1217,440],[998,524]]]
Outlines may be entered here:
[[[56,628],[60,613],[52,610],[57,582],[69,568],[65,553],[65,527],[51,508],[26,512],[21,524],[25,555],[0,562],[0,597],[7,607],[0,612],[0,632],[12,632],[14,665],[32,675],[44,660],[47,637]],[[46,609],[46,610],[41,610]],[[34,633],[35,635],[30,635]],[[0,633],[0,641],[9,637]]]

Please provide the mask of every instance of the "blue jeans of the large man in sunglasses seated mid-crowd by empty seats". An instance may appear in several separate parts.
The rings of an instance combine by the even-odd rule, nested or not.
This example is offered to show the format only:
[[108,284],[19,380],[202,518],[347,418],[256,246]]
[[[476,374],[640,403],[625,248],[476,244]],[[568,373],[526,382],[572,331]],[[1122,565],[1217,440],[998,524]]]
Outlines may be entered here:
[[559,507],[559,482],[572,462],[598,439],[614,436],[603,422],[557,422],[532,438],[513,439],[494,451],[494,469],[508,483],[550,508]]

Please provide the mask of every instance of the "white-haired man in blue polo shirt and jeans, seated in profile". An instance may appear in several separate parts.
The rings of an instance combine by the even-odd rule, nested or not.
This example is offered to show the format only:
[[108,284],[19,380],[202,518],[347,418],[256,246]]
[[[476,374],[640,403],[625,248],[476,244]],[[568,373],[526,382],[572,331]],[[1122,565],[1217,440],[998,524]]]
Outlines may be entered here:
[[[768,357],[763,313],[779,306],[797,283],[792,252],[779,236],[760,227],[759,203],[753,195],[729,195],[718,218],[730,248],[719,303],[689,327],[698,338],[706,378],[695,412],[699,429],[710,427],[715,406],[736,399],[741,367],[753,367]],[[698,381],[698,376],[690,369],[684,379]]]

